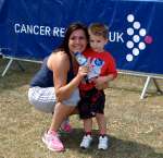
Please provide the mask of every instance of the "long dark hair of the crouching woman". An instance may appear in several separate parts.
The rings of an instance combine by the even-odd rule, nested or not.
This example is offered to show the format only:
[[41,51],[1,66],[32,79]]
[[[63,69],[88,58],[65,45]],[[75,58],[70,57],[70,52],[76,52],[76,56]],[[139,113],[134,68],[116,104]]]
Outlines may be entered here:
[[85,26],[82,23],[73,23],[66,29],[64,39],[63,39],[61,46],[59,47],[59,49],[57,49],[55,51],[63,50],[63,51],[65,51],[65,53],[67,53],[71,57],[71,52],[70,52],[70,48],[68,48],[68,40],[70,40],[70,36],[72,35],[72,33],[74,31],[77,31],[77,29],[83,29],[84,31],[84,33],[86,35],[86,38],[88,40],[87,47],[89,47],[89,35],[88,35],[88,28],[87,28],[87,26]]

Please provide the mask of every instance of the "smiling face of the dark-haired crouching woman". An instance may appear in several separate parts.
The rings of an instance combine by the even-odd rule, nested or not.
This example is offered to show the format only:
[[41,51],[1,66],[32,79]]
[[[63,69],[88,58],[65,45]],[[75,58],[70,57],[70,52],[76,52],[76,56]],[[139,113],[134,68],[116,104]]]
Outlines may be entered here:
[[83,29],[76,29],[72,33],[68,40],[71,52],[83,52],[87,47],[87,38]]

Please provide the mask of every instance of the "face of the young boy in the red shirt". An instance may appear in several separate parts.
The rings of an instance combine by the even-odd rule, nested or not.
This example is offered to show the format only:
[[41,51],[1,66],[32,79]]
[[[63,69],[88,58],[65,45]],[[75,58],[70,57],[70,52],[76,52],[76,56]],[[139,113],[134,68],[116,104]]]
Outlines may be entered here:
[[102,52],[104,50],[104,45],[108,42],[103,36],[90,35],[90,47],[98,52]]

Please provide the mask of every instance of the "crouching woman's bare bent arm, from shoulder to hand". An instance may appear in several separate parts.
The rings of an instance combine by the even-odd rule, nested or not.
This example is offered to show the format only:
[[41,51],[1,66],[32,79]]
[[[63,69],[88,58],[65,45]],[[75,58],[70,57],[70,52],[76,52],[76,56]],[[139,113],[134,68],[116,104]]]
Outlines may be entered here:
[[51,69],[53,71],[57,99],[62,101],[71,96],[87,72],[84,70],[84,68],[80,68],[77,75],[68,84],[66,84],[67,73],[70,71],[68,56],[64,52],[58,52],[51,56],[50,61]]

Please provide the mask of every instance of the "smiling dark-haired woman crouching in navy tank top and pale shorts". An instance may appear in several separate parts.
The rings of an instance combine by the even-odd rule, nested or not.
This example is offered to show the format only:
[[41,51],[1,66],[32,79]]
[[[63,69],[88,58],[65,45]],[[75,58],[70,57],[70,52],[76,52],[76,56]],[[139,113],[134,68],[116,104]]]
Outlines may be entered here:
[[43,60],[41,69],[32,80],[28,99],[37,109],[54,112],[48,131],[42,136],[47,147],[54,151],[64,150],[58,130],[79,101],[78,85],[88,73],[79,66],[74,52],[88,47],[87,27],[79,23],[70,25],[63,44]]

